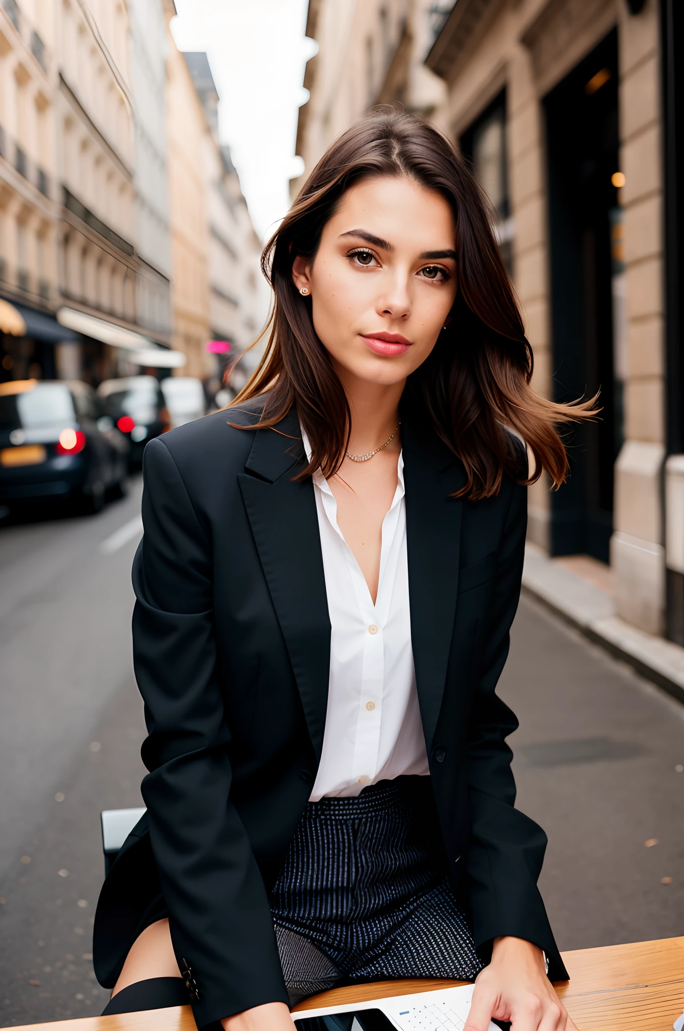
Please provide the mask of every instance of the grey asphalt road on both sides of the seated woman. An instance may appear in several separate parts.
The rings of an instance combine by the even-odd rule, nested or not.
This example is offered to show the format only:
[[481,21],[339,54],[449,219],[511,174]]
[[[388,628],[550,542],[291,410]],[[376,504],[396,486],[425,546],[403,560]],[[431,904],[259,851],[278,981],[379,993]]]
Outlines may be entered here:
[[[0,523],[0,1025],[106,1002],[91,964],[99,812],[141,804],[143,773],[139,494],[97,517]],[[682,933],[684,706],[527,600],[512,638],[501,692],[521,724],[518,805],[549,836],[559,946]]]

